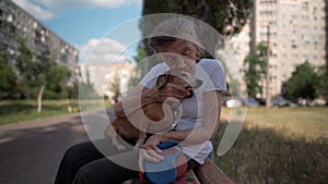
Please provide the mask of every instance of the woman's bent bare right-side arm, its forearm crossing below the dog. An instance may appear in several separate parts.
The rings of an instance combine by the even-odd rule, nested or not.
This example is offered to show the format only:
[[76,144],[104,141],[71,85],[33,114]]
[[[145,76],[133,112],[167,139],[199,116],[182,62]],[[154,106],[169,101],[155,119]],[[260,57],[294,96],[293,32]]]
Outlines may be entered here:
[[220,122],[221,98],[221,91],[207,91],[203,102],[203,122],[199,127],[155,134],[148,139],[144,148],[156,150],[156,145],[168,140],[181,142],[185,145],[195,145],[214,138]]

